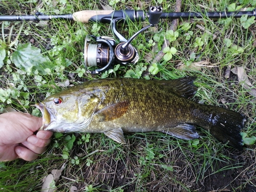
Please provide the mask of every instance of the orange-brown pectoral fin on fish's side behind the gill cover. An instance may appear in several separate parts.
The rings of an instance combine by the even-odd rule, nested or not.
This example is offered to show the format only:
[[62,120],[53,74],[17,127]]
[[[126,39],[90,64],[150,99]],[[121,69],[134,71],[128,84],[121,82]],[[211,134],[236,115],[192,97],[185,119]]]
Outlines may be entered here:
[[97,112],[96,118],[98,118],[99,122],[114,120],[123,116],[126,113],[128,106],[129,102],[127,101],[108,105]]

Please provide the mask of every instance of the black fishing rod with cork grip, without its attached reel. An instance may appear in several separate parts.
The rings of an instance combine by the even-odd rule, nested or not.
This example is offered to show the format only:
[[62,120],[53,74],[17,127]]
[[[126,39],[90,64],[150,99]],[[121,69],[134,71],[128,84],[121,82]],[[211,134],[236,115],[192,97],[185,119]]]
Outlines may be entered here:
[[[74,20],[76,22],[89,23],[109,23],[110,19],[122,18],[132,22],[143,22],[150,16],[150,11],[143,10],[84,10],[73,14],[45,15],[37,12],[35,15],[0,15],[0,22],[9,21],[40,21],[52,19]],[[239,18],[243,15],[256,17],[256,9],[253,11],[220,11],[220,12],[162,12],[159,18],[176,19],[176,18]]]

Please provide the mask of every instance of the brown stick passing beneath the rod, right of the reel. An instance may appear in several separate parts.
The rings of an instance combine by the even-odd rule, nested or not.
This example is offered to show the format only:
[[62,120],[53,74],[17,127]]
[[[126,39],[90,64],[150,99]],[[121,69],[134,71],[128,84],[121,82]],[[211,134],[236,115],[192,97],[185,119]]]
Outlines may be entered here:
[[[175,12],[181,12],[181,0],[177,0],[176,1]],[[176,29],[178,27],[178,24],[179,24],[179,19],[174,19],[172,21],[172,24],[170,25],[170,30],[176,31]],[[169,45],[170,45],[170,42],[168,40],[165,40],[165,42],[164,42],[164,44],[162,46],[162,50],[157,53],[156,57],[153,59],[151,64],[147,67],[146,71],[142,75],[143,77],[148,75],[148,69],[153,65],[153,63],[157,63],[157,62],[159,62],[163,58],[163,56],[165,54],[163,52],[163,49],[168,47]]]

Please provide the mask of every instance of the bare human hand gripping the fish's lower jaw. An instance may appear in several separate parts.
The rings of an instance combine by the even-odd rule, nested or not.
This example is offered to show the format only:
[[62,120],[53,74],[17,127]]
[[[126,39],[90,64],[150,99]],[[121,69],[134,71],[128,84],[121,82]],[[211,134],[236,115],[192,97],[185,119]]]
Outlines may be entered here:
[[38,131],[42,119],[28,113],[0,115],[0,161],[22,158],[32,161],[46,151],[52,132]]

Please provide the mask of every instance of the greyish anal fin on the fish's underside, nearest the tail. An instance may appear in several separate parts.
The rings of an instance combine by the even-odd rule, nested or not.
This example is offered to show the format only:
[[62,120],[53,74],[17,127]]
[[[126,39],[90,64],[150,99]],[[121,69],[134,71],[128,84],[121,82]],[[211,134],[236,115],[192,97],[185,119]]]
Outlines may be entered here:
[[196,132],[196,127],[190,124],[179,124],[176,127],[172,127],[168,130],[163,130],[161,132],[172,135],[179,139],[189,140],[199,138],[199,135]]

